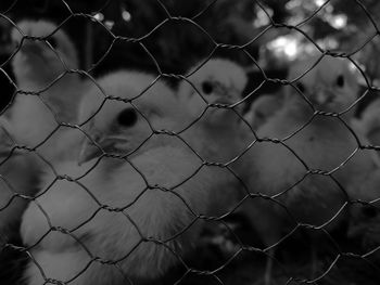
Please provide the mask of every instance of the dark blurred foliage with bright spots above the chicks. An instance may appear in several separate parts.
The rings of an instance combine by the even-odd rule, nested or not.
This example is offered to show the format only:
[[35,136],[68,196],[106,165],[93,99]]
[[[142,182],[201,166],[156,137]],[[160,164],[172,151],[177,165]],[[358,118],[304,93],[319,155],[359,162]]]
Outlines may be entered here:
[[[194,62],[207,57],[216,43],[246,44],[249,55],[238,49],[217,48],[213,56],[230,57],[251,66],[252,91],[264,77],[250,56],[268,77],[284,78],[289,61],[317,51],[315,41],[324,49],[355,52],[354,59],[368,77],[377,80],[380,64],[375,54],[379,54],[380,40],[377,36],[362,47],[377,34],[365,10],[379,24],[377,0],[2,0],[0,54],[4,63],[14,51],[8,42],[12,27],[8,17],[15,23],[22,18],[49,18],[63,23],[62,28],[76,42],[81,67],[91,68],[94,76],[122,67],[157,73],[151,55],[163,73],[183,74]],[[76,15],[72,16],[72,12]],[[169,15],[173,18],[168,21]],[[308,17],[309,21],[304,22]],[[287,27],[269,28],[261,34],[271,21],[299,25],[313,41]],[[127,40],[114,40],[111,33]],[[3,64],[2,69],[12,74],[9,64]],[[1,82],[2,86],[8,82],[3,73]],[[257,95],[277,88],[266,82]],[[2,103],[7,98],[2,95]]]

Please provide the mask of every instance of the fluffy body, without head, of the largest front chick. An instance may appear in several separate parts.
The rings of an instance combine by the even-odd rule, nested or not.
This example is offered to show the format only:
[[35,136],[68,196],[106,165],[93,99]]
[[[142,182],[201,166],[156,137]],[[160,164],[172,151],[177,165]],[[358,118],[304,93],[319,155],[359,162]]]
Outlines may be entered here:
[[[147,173],[147,179],[152,185],[159,184],[162,186],[173,186],[181,183],[200,165],[199,159],[192,154],[187,154],[183,150],[170,146],[148,151],[132,161],[142,173]],[[68,166],[68,168],[72,167]],[[80,182],[102,204],[111,207],[126,207],[137,199],[145,189],[141,176],[128,164],[121,165],[111,176],[107,172],[102,172],[102,165],[98,167],[97,171],[91,172],[91,176]],[[103,171],[106,169],[103,169]],[[211,171],[204,169],[193,179],[174,190],[195,215],[210,215],[207,209],[211,207],[211,189],[215,186],[213,178],[216,177],[215,172],[217,171],[217,169]],[[110,177],[106,178],[104,174]],[[224,174],[223,171],[219,174]],[[91,180],[97,183],[91,183]],[[102,181],[104,181],[103,184],[101,184]],[[165,241],[191,225],[195,216],[190,212],[181,198],[173,193],[148,190],[135,204],[125,209],[124,213],[101,210],[88,223],[74,231],[73,234],[83,239],[93,256],[105,260],[116,261],[131,251],[126,259],[118,262],[123,272],[131,277],[154,278],[178,263],[178,257],[164,245],[154,242],[138,244],[142,236]],[[90,219],[99,209],[99,205],[92,197],[73,182],[58,183],[56,186],[38,198],[38,202],[47,211],[51,223],[65,229],[75,229]],[[23,226],[24,241],[30,245],[49,229],[46,218],[35,207],[29,206],[25,213],[24,224],[29,225],[29,229]],[[126,215],[136,223],[138,230]],[[36,221],[39,222],[36,223]],[[182,257],[197,243],[201,225],[202,222],[198,221],[180,236],[167,242],[166,246]],[[142,236],[138,231],[141,232]],[[30,241],[29,236],[33,236]],[[134,249],[137,245],[138,247]],[[37,250],[36,261],[41,262],[47,276],[61,281],[74,277],[86,268],[90,259],[74,238],[62,233],[49,234],[39,243],[39,247],[49,251],[50,257],[48,260],[39,259],[40,250]],[[64,257],[69,250],[77,251],[75,255],[71,254],[73,257],[84,257],[85,259],[71,260],[68,267],[72,268],[72,271],[55,268],[56,263],[62,262],[61,257]],[[75,262],[74,267],[73,262]],[[43,264],[51,265],[45,268]],[[116,268],[111,270],[110,265],[94,263],[73,284],[103,284],[99,281],[99,274],[106,275],[107,284],[122,284],[123,282],[123,275],[117,272]],[[40,284],[43,281],[38,268],[33,262],[28,267],[26,276],[30,285]]]

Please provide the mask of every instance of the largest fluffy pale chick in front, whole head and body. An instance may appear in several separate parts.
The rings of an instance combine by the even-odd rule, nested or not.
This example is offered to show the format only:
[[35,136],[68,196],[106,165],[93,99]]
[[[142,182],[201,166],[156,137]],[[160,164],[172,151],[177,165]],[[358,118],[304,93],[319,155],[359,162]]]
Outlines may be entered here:
[[[117,72],[98,82],[107,95],[128,101],[138,96],[153,79],[144,74]],[[80,153],[81,165],[67,161],[60,169],[80,177],[94,164],[87,160],[99,159],[103,152],[113,156],[129,154],[130,164],[103,157],[91,172],[79,179],[86,189],[75,182],[58,181],[37,200],[52,225],[73,230],[73,235],[80,238],[93,256],[118,261],[121,271],[132,280],[152,280],[178,262],[172,250],[182,255],[197,241],[202,222],[192,224],[192,221],[199,213],[212,213],[210,209],[216,203],[212,197],[231,178],[215,167],[202,167],[197,172],[202,161],[179,139],[167,134],[151,137],[151,127],[181,129],[187,116],[186,106],[164,83],[155,82],[132,100],[136,108],[126,102],[107,100],[98,112],[102,100],[103,94],[93,88],[86,95],[81,112],[83,118],[92,117],[84,128],[102,150],[86,140]],[[48,176],[43,180],[51,179]],[[156,189],[159,185],[173,190]],[[100,204],[109,207],[100,210]],[[45,215],[30,204],[22,223],[24,242],[35,244],[49,228]],[[50,233],[33,255],[49,277],[68,281],[81,273],[71,284],[122,284],[124,281],[113,265],[94,261],[86,269],[90,257],[69,235]],[[29,285],[43,283],[34,262],[29,263],[25,277]]]

